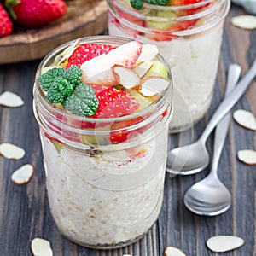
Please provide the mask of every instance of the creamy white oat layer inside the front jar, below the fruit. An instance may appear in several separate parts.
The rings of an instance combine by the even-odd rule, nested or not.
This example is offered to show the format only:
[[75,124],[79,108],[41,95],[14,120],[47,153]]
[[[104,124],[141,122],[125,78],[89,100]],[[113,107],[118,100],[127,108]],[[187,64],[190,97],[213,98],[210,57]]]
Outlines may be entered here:
[[63,147],[58,153],[41,132],[49,205],[61,233],[104,247],[147,232],[160,213],[166,137],[167,129],[134,149],[143,154],[119,150],[89,157]]

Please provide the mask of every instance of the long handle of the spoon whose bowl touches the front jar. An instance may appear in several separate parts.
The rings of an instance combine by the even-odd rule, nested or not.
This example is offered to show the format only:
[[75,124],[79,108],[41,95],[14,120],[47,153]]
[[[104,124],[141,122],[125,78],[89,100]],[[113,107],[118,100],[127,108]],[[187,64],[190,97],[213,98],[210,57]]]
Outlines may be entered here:
[[236,85],[236,88],[230,92],[230,94],[224,98],[223,102],[220,103],[215,113],[212,115],[207,128],[201,135],[202,142],[207,141],[207,137],[212,132],[213,128],[218,124],[219,120],[224,117],[226,113],[236,104],[236,102],[243,95],[245,90],[247,90],[248,85],[251,83],[256,75],[256,59],[253,61],[253,65],[250,67],[247,74],[241,79],[241,81]]

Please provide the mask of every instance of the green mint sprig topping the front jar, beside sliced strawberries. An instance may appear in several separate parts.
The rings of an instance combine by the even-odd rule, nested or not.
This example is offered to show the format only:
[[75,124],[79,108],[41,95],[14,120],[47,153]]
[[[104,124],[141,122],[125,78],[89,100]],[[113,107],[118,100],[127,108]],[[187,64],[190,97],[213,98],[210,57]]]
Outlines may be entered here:
[[91,116],[96,113],[99,102],[95,90],[81,83],[81,77],[82,71],[74,65],[67,70],[59,67],[49,69],[38,80],[49,102],[61,103],[72,113]]

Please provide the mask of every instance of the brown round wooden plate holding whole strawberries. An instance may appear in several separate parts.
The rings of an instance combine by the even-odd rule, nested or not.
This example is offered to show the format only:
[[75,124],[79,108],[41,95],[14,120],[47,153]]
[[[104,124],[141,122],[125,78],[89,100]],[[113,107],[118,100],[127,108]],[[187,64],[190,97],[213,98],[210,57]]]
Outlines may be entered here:
[[67,0],[67,15],[38,29],[15,28],[0,38],[0,64],[43,58],[67,41],[98,35],[107,30],[108,8],[105,0]]

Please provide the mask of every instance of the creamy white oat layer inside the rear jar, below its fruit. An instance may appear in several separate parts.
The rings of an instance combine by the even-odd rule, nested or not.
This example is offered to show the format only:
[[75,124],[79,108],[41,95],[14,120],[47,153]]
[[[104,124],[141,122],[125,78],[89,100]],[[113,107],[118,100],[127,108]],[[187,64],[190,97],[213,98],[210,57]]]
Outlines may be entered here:
[[144,44],[155,44],[170,65],[174,84],[174,114],[170,123],[172,131],[191,126],[192,122],[196,123],[207,112],[218,69],[222,27],[223,22],[220,22],[218,26],[195,36],[156,42],[134,35],[131,30],[124,31],[110,15],[110,35],[137,38]]

